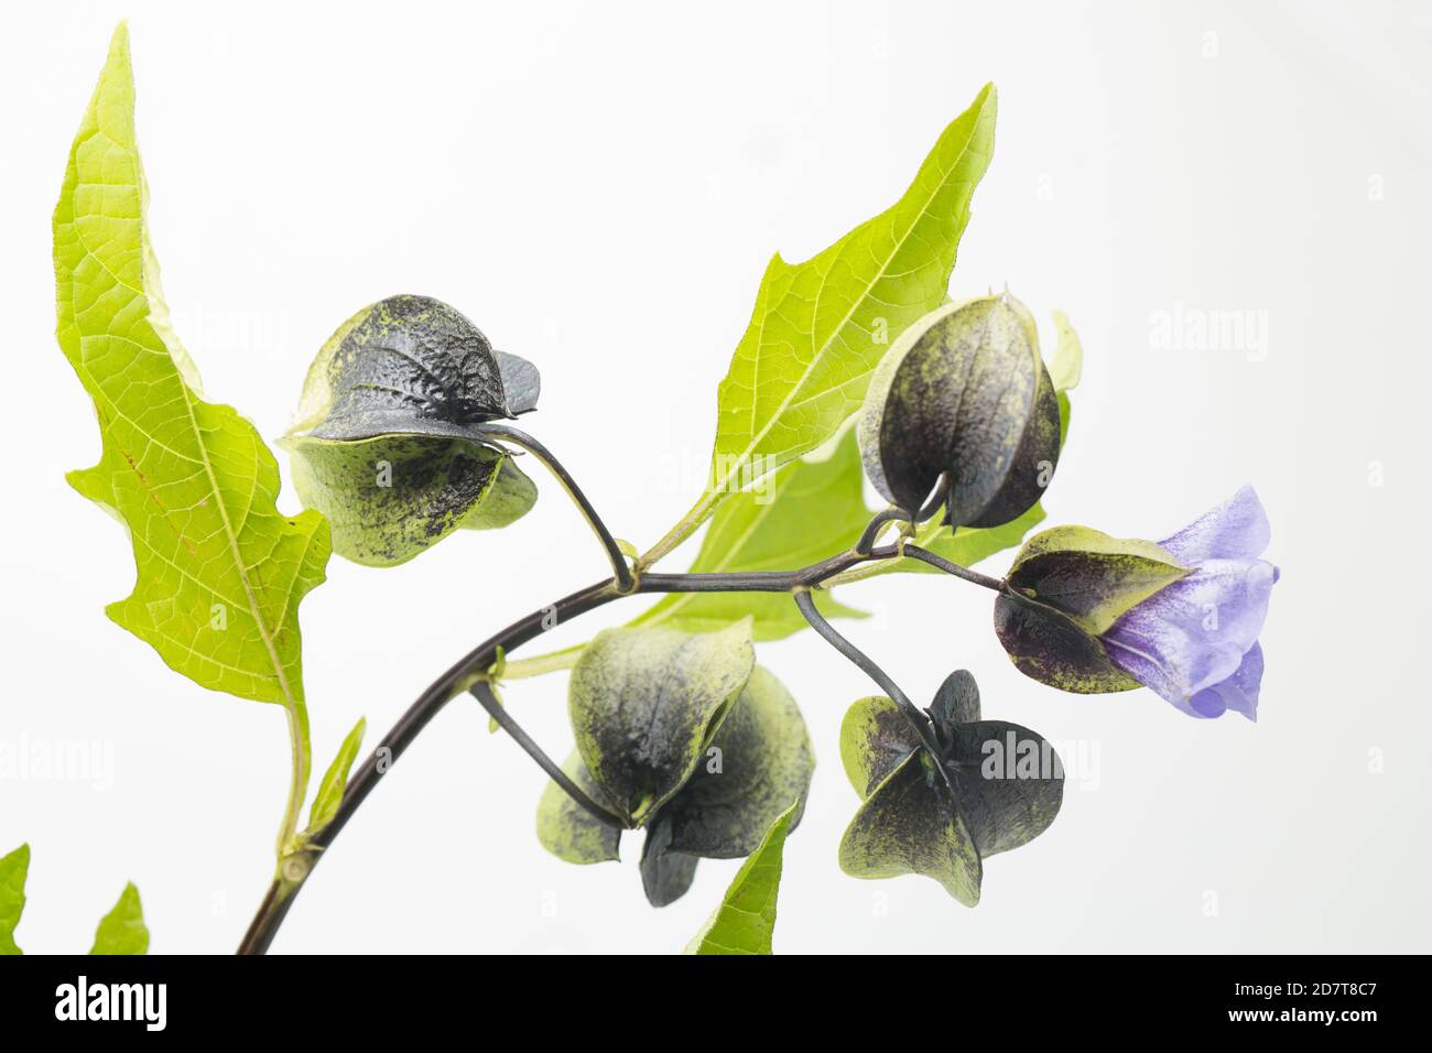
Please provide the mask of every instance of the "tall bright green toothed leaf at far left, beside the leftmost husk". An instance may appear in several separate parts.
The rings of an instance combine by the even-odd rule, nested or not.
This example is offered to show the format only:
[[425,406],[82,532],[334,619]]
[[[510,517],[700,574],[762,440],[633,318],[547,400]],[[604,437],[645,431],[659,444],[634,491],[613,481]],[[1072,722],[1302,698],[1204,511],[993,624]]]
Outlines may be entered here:
[[[70,484],[129,529],[137,577],[106,613],[196,683],[306,712],[298,605],[324,580],[328,526],[279,514],[253,425],[199,395],[145,226],[129,34],[115,32],[54,209],[57,337],[103,448]],[[306,764],[306,759],[305,759]]]

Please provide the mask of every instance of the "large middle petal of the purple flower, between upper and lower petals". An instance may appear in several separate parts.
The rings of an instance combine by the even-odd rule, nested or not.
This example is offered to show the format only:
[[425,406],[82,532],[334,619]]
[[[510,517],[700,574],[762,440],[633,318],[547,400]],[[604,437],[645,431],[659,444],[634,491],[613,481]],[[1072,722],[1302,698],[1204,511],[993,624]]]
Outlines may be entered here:
[[1233,676],[1263,629],[1277,569],[1213,559],[1144,600],[1104,633],[1114,663],[1191,716],[1204,688]]

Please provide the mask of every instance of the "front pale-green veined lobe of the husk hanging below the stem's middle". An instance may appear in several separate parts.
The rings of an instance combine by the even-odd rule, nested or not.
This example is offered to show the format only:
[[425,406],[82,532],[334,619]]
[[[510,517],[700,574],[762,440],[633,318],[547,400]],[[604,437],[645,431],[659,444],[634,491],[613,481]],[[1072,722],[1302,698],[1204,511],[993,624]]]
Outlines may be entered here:
[[696,771],[755,668],[750,622],[713,633],[607,629],[571,670],[577,751],[613,809],[633,825]]

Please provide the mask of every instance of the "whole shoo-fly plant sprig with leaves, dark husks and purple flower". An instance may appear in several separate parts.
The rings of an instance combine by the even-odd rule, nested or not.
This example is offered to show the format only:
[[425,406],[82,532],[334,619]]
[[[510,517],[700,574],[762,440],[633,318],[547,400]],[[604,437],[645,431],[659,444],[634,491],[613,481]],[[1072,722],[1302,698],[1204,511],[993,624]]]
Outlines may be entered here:
[[[281,511],[276,460],[243,417],[206,400],[169,325],[133,115],[120,26],[54,211],[59,342],[103,440],[99,463],[69,479],[133,544],[135,589],[110,617],[198,685],[286,718],[292,764],[274,880],[241,951],[269,947],[382,775],[442,706],[470,693],[550,776],[540,801],[520,804],[536,809],[538,844],[566,862],[600,864],[640,832],[640,878],[656,907],[687,893],[700,858],[745,857],[687,950],[769,953],[782,852],[816,758],[800,685],[788,689],[759,665],[758,645],[806,626],[879,689],[845,715],[841,762],[859,799],[831,855],[852,877],[922,874],[975,905],[985,862],[1054,821],[1063,768],[1037,732],[997,719],[1008,672],[985,682],[994,716],[964,669],[921,708],[832,625],[861,615],[833,590],[882,573],[944,573],[991,590],[1014,666],[1060,691],[1147,685],[1194,716],[1254,716],[1257,638],[1277,572],[1260,559],[1269,526],[1252,490],[1157,544],[1087,527],[1024,540],[1044,519],[1081,348],[1054,312],[1045,358],[1034,315],[1007,289],[949,297],[994,149],[992,86],[941,133],[889,209],[805,262],[766,266],[717,388],[706,487],[646,552],[614,539],[531,434],[537,367],[494,348],[458,307],[412,294],[359,308],[318,350],[281,440],[306,507]],[[520,334],[500,335],[520,345]],[[520,529],[537,484],[518,453],[554,477],[611,573],[478,642],[361,761],[359,721],[311,794],[304,596],[324,582],[331,552],[388,567],[463,527]],[[866,507],[866,479],[888,507]],[[703,526],[689,570],[656,569]],[[1004,577],[969,569],[1012,547]],[[554,625],[634,596],[657,599],[590,643],[517,656]],[[560,765],[501,698],[556,670],[570,670],[573,732]],[[831,719],[828,702],[821,719]],[[322,729],[337,739],[328,716]],[[13,950],[27,858],[0,860],[0,950]],[[129,937],[96,950],[147,946],[130,891],[122,917],[102,925]]]

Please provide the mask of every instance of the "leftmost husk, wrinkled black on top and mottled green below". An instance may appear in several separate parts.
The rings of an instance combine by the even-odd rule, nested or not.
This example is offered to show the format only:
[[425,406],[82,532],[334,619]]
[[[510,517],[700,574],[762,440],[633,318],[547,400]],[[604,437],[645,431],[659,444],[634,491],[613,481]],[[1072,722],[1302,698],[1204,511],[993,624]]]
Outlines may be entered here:
[[319,350],[281,446],[334,550],[391,567],[454,530],[505,527],[531,510],[537,487],[480,428],[534,408],[538,390],[537,367],[493,351],[457,309],[388,297]]

